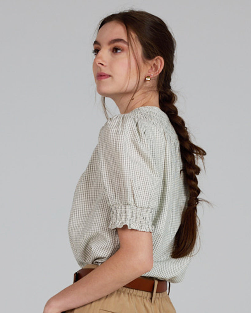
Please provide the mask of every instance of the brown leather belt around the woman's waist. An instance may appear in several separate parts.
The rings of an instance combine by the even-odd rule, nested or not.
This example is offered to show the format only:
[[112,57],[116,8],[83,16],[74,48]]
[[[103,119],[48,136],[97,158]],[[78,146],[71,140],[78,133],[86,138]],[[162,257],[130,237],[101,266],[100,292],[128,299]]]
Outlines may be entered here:
[[[76,273],[74,273],[74,279],[73,283],[75,283],[77,280],[80,280],[85,275],[90,273],[93,269],[79,269]],[[143,291],[149,291],[153,292],[154,287],[154,279],[151,277],[138,277],[135,280],[132,280],[130,283],[126,284],[124,287],[137,289],[137,290],[143,290]],[[167,291],[167,281],[166,280],[158,280],[157,290],[156,292],[164,292]],[[168,294],[170,291],[170,283],[168,288]]]

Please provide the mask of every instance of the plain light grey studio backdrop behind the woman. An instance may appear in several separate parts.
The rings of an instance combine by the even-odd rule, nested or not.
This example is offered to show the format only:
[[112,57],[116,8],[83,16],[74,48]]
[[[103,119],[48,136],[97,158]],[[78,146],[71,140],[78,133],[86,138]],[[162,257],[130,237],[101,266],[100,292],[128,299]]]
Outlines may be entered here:
[[1,0],[2,312],[42,313],[79,269],[68,218],[106,122],[92,43],[128,8],[174,33],[176,105],[207,152],[199,197],[213,207],[198,206],[200,251],[170,298],[177,313],[250,311],[250,1]]

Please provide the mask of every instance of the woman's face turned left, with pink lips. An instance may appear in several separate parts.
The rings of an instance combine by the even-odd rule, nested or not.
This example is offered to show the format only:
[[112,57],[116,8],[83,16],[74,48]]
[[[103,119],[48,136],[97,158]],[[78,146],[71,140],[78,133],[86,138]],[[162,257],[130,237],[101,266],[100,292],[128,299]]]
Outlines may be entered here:
[[[123,95],[132,95],[138,82],[138,71],[131,50],[129,54],[125,25],[117,21],[104,24],[99,29],[93,48],[93,74],[97,92],[113,100]],[[142,73],[140,89],[146,65],[143,63],[142,47],[138,40],[134,40],[133,48]]]

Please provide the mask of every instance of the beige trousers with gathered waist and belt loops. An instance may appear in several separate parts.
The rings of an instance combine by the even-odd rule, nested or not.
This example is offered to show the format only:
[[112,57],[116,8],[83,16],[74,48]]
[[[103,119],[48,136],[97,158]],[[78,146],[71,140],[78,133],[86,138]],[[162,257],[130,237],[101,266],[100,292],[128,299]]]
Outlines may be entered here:
[[[96,268],[87,264],[84,268]],[[154,280],[153,292],[121,287],[103,298],[66,313],[176,313],[167,291],[156,293],[158,280]]]

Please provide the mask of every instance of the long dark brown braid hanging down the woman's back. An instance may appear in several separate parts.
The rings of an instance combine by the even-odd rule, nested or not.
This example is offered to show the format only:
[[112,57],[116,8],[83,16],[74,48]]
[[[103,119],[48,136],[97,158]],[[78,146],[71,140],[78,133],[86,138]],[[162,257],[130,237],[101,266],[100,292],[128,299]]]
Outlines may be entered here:
[[[169,84],[168,84],[169,85]],[[169,85],[170,86],[170,85]],[[169,87],[168,86],[168,87]],[[187,207],[184,208],[181,225],[176,233],[174,239],[174,249],[172,253],[173,258],[179,258],[185,254],[189,254],[196,242],[197,237],[197,205],[199,201],[200,188],[198,187],[198,180],[196,175],[200,173],[200,167],[196,164],[195,155],[204,161],[206,151],[202,148],[195,146],[190,141],[190,136],[185,126],[184,120],[178,115],[178,109],[174,105],[177,96],[168,88],[159,92],[159,105],[163,110],[174,127],[180,143],[180,154],[183,162],[184,179],[187,182],[189,190],[189,199]],[[203,163],[204,164],[204,163]]]

